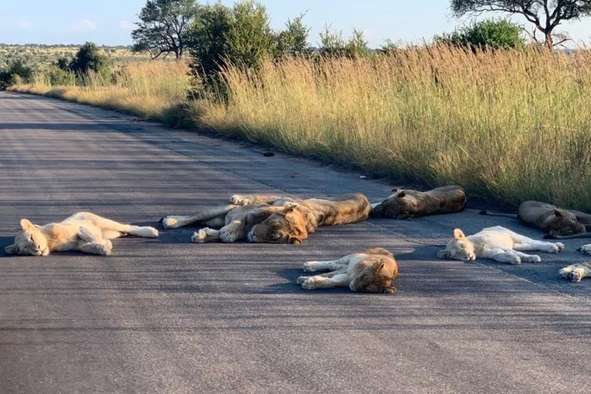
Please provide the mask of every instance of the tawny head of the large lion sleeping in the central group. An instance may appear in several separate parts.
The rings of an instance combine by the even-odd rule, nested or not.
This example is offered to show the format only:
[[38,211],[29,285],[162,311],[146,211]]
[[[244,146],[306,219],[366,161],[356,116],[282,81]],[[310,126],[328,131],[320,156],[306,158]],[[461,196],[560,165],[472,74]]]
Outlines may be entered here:
[[[255,224],[248,233],[251,242],[294,243],[300,245],[308,237],[308,233],[316,228],[309,210],[294,204],[286,203],[284,209],[273,213],[264,222]],[[314,220],[315,222],[315,220]]]

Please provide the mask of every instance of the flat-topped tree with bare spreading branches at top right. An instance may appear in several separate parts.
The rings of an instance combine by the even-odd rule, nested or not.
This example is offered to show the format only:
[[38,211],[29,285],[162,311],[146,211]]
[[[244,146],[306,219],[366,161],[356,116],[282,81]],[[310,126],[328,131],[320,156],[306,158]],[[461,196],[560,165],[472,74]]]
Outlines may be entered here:
[[456,17],[486,11],[522,15],[544,34],[545,45],[553,48],[567,40],[554,42],[554,29],[564,21],[591,15],[591,0],[452,0],[452,11]]

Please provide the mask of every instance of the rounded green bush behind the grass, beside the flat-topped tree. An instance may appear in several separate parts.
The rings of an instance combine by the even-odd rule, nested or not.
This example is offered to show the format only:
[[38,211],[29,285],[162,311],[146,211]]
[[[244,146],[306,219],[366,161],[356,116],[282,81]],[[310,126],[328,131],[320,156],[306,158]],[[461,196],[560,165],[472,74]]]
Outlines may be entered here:
[[517,48],[525,45],[521,26],[507,19],[486,19],[460,28],[451,34],[436,35],[434,41],[459,47]]

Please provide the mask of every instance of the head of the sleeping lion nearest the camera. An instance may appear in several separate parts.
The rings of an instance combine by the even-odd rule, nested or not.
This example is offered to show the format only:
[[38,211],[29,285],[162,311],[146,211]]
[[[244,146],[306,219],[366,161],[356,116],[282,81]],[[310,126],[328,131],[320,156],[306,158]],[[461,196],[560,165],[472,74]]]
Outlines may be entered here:
[[[393,263],[393,264],[392,264]],[[369,293],[394,293],[392,281],[398,276],[398,265],[388,258],[379,258],[369,264],[349,284],[352,291]]]

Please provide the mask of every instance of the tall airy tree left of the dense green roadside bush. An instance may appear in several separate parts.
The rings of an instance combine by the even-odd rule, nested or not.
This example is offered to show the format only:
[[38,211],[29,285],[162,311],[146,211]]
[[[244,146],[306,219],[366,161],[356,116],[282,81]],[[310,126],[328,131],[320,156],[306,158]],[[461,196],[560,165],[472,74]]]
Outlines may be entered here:
[[152,59],[174,53],[183,57],[187,31],[199,11],[195,0],[148,0],[139,12],[138,28],[131,32],[132,49],[148,51]]

